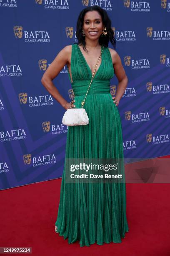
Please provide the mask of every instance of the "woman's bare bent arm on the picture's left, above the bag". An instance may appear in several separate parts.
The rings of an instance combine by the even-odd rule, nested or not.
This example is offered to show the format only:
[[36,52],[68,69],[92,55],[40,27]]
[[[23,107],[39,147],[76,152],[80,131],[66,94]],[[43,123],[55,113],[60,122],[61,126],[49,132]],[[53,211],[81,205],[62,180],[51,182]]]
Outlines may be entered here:
[[[52,80],[57,77],[60,71],[63,69],[67,63],[69,56],[71,54],[72,46],[65,46],[52,61],[50,66],[46,69],[45,73],[41,78],[41,82],[45,89],[57,100],[63,108],[66,110],[70,107],[70,102],[67,102],[59,93]],[[71,105],[72,108],[74,105]]]

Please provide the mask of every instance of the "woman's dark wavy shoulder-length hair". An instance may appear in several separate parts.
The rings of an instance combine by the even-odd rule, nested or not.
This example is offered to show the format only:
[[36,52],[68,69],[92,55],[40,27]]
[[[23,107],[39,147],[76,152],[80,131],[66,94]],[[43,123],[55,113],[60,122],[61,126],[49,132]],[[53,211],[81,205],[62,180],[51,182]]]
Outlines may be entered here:
[[89,6],[85,9],[83,9],[77,19],[77,26],[76,26],[76,37],[78,39],[78,43],[77,44],[82,44],[82,48],[87,51],[87,49],[85,48],[85,36],[82,36],[82,28],[83,28],[83,23],[84,23],[84,16],[85,13],[87,13],[88,11],[97,11],[101,17],[102,17],[102,23],[104,24],[104,26],[106,27],[106,31],[107,31],[107,35],[106,36],[100,36],[99,37],[99,44],[101,46],[105,46],[108,47],[109,41],[111,42],[111,44],[113,45],[113,47],[116,47],[116,40],[114,38],[114,33],[113,30],[111,28],[111,20],[107,15],[107,12],[105,10],[103,10],[102,8],[100,8],[97,5],[94,6]]

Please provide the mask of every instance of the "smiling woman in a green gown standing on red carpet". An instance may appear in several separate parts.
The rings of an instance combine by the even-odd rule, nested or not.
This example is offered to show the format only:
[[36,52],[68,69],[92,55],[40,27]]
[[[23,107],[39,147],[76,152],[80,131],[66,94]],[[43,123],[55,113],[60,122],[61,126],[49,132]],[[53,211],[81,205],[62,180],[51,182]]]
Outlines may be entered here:
[[[98,6],[83,9],[77,20],[78,44],[65,46],[42,77],[42,84],[62,105],[81,108],[94,67],[99,58],[93,81],[85,100],[89,124],[68,126],[66,159],[123,158],[122,127],[117,105],[127,87],[128,78],[120,56],[108,48],[115,47],[111,21],[105,10]],[[67,102],[52,80],[67,64],[75,99]],[[119,84],[115,97],[110,93],[110,79],[116,75]],[[126,219],[125,182],[69,183],[66,182],[66,164],[62,174],[60,204],[55,232],[68,243],[80,241],[80,246],[92,243],[121,243],[128,232]],[[121,168],[124,175],[124,165]]]

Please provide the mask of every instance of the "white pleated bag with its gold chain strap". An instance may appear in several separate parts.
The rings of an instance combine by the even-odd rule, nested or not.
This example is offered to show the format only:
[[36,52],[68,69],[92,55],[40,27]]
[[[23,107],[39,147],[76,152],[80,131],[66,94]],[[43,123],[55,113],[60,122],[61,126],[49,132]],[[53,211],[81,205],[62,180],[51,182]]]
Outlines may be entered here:
[[[103,51],[103,49],[104,49],[104,47],[102,46],[102,51]],[[99,59],[97,61],[97,64],[100,61],[102,51],[101,51],[101,54],[100,54]],[[97,64],[95,65],[95,70],[96,70]],[[92,79],[91,79],[91,82],[90,82],[89,87],[87,89],[87,92],[88,92],[88,90],[90,88],[90,85],[92,83],[92,80],[93,80],[93,77],[94,77],[94,74],[95,74],[95,70],[92,74]],[[64,115],[63,115],[62,124],[68,125],[68,126],[75,126],[75,125],[87,125],[89,123],[88,115],[87,115],[85,109],[83,108],[83,106],[85,104],[85,99],[86,99],[86,96],[87,96],[87,92],[86,92],[84,100],[81,102],[81,105],[82,105],[81,108],[72,108],[71,104],[72,104],[74,98],[72,99],[72,101],[70,102],[70,108],[68,108],[66,110],[66,112],[64,113]]]

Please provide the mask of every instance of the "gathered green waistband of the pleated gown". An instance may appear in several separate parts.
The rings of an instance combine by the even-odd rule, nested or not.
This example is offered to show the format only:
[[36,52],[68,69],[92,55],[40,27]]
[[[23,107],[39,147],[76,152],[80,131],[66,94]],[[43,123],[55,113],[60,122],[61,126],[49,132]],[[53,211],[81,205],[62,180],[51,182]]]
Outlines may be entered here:
[[[85,95],[91,80],[76,80],[72,82],[72,89],[75,96]],[[110,80],[93,80],[87,94],[110,93]]]

